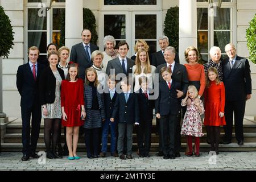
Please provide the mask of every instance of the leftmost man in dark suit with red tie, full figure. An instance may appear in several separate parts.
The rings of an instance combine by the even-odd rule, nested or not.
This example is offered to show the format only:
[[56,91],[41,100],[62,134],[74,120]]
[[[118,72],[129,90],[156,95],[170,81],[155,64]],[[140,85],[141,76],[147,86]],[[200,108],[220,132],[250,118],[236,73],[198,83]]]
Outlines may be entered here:
[[[38,78],[45,65],[37,63],[39,50],[33,46],[28,49],[29,61],[27,64],[20,65],[16,75],[16,86],[21,96],[20,106],[22,114],[22,161],[30,158],[39,158],[35,153],[36,144],[41,124],[41,105],[39,101]],[[30,118],[31,136],[30,136]]]

